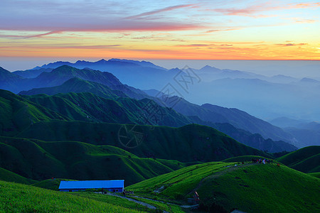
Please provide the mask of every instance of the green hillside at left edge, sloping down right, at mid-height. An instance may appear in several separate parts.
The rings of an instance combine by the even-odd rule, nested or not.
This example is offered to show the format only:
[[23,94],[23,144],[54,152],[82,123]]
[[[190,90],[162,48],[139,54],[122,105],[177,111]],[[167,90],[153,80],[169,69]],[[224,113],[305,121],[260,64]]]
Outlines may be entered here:
[[38,121],[68,120],[67,117],[39,104],[0,89],[0,135],[12,136]]

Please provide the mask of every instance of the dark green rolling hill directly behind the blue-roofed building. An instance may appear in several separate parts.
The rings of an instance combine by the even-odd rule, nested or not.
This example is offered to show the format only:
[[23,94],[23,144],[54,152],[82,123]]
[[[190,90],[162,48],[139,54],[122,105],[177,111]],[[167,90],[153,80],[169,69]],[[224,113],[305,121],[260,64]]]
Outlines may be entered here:
[[129,185],[183,166],[176,160],[138,158],[113,146],[0,137],[0,167],[33,180],[52,177],[124,179],[125,184]]

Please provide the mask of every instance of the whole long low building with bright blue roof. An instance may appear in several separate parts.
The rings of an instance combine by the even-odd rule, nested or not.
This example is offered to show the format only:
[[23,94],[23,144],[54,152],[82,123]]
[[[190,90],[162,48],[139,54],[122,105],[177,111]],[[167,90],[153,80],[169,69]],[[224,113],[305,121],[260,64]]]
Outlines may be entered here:
[[60,182],[59,186],[61,192],[78,192],[87,189],[103,189],[110,192],[123,192],[124,180],[63,180]]

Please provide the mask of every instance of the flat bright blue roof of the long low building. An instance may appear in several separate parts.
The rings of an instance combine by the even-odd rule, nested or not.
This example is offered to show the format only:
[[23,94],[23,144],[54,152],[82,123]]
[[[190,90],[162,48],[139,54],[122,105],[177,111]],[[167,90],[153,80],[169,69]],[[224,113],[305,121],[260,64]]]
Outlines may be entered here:
[[61,181],[59,190],[123,188],[124,180],[79,180]]

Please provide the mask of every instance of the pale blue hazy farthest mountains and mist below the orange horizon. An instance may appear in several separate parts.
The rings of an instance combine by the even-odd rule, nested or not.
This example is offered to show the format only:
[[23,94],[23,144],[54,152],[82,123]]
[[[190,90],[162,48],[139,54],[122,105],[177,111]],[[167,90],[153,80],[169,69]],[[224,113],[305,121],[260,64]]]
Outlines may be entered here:
[[[220,70],[207,65],[199,70],[192,69],[186,73],[187,76],[181,78],[179,75],[181,70],[178,68],[167,70],[151,62],[119,59],[97,62],[83,60],[75,63],[53,62],[35,67],[33,70],[37,73],[40,70],[48,72],[60,65],[70,65],[79,69],[88,67],[93,70],[110,72],[124,84],[138,89],[161,91],[168,83],[171,83],[178,91],[177,95],[184,97],[189,102],[238,108],[262,119],[287,116],[292,119],[320,120],[320,111],[316,107],[320,104],[320,94],[316,92],[320,89],[320,82],[308,77],[301,79],[285,75],[266,77],[240,70]],[[186,70],[188,69],[183,71],[186,72]],[[22,75],[21,72],[14,73]],[[186,92],[181,84],[184,83],[183,81],[191,80],[191,76],[193,81],[188,84]],[[23,74],[23,77],[34,77],[34,75]]]

